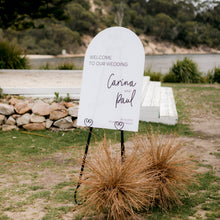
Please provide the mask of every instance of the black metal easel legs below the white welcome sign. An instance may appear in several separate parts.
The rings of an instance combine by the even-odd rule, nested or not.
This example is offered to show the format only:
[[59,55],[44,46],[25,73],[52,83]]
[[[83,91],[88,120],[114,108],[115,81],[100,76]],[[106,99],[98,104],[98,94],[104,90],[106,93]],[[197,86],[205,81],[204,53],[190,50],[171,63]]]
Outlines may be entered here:
[[[87,153],[88,153],[88,150],[89,150],[89,143],[90,143],[90,139],[91,139],[91,136],[92,136],[92,129],[93,129],[93,127],[90,127],[90,129],[89,129],[89,136],[88,136],[88,139],[87,139],[85,153],[84,153],[84,156],[83,156],[83,161],[82,161],[81,170],[80,170],[80,174],[79,174],[79,181],[78,181],[75,193],[74,193],[74,200],[75,200],[75,203],[77,205],[82,205],[83,204],[83,202],[82,203],[78,202],[78,200],[76,198],[76,195],[77,195],[77,190],[79,189],[79,187],[81,185],[81,179],[82,179],[82,175],[83,175],[83,171],[84,171],[84,167],[85,167],[85,163],[86,163],[86,157],[87,157]],[[124,157],[125,157],[124,131],[121,130],[121,161],[122,161],[122,163],[124,162]]]

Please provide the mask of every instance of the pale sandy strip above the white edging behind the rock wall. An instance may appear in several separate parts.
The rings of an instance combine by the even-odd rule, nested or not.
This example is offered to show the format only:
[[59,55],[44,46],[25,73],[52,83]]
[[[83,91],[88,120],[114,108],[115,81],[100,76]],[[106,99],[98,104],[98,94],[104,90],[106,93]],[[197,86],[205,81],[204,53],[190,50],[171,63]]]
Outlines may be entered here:
[[82,71],[0,70],[0,88],[80,88]]

